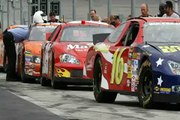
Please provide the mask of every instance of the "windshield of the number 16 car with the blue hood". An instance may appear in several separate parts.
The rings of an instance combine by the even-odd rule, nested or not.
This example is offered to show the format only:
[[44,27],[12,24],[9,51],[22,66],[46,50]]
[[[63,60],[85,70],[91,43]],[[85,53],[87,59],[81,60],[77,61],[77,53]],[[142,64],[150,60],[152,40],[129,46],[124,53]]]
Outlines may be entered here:
[[180,42],[180,23],[158,22],[144,24],[146,42],[176,43]]

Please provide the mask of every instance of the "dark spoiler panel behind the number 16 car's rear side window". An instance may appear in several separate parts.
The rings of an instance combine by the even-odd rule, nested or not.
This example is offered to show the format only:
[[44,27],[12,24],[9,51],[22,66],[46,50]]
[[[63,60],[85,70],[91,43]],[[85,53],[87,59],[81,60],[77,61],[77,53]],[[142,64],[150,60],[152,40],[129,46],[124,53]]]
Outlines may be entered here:
[[110,33],[94,34],[93,35],[93,44],[99,42],[104,42],[104,40],[110,35]]

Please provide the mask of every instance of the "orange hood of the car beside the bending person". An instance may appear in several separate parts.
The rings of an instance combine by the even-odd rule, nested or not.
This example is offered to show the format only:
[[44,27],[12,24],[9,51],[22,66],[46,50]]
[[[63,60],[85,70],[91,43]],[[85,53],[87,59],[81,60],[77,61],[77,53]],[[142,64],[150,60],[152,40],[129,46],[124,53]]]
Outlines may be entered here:
[[42,41],[24,42],[25,52],[39,56],[41,54]]

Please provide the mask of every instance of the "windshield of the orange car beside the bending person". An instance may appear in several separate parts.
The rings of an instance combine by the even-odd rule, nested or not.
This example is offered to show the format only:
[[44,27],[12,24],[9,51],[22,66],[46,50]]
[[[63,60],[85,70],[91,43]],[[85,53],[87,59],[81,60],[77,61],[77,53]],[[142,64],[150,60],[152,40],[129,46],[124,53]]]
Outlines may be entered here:
[[29,34],[29,40],[43,41],[46,40],[46,33],[53,32],[57,26],[33,26]]

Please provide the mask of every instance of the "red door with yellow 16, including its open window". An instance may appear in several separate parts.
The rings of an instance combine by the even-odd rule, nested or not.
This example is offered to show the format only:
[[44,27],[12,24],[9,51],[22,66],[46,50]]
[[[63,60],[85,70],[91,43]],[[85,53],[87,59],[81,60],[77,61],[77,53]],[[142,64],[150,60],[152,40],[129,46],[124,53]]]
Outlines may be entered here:
[[[137,23],[136,23],[137,24]],[[135,91],[135,79],[132,79],[132,60],[129,54],[130,47],[135,41],[138,29],[135,30],[134,23],[131,21],[124,34],[120,37],[121,46],[114,51],[111,84],[114,88],[122,91]],[[138,26],[138,25],[137,25]],[[132,81],[133,80],[133,81]]]

